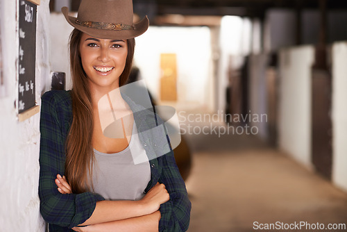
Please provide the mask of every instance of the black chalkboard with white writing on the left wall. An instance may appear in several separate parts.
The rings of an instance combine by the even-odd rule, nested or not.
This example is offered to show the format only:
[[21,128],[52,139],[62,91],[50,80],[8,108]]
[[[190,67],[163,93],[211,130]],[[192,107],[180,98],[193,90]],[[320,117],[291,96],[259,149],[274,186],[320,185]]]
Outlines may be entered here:
[[36,15],[35,4],[19,0],[19,113],[35,106]]

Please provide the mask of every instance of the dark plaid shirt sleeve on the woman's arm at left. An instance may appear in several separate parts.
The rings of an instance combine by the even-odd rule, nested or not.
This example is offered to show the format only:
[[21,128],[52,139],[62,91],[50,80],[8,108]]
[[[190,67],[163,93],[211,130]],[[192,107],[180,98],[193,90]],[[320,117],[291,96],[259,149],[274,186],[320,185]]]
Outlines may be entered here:
[[85,222],[103,197],[92,192],[60,194],[56,175],[65,174],[65,141],[71,122],[68,92],[49,91],[42,96],[40,119],[40,212],[49,224],[72,228]]

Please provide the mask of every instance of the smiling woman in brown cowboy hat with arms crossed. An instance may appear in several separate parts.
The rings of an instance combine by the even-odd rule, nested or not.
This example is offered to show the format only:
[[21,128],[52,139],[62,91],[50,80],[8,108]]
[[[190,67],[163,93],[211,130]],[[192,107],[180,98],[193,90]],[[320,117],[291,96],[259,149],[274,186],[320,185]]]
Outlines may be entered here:
[[119,90],[148,19],[133,24],[124,0],[83,0],[77,18],[62,13],[75,27],[73,88],[42,96],[39,195],[49,230],[186,231],[191,204],[164,124]]

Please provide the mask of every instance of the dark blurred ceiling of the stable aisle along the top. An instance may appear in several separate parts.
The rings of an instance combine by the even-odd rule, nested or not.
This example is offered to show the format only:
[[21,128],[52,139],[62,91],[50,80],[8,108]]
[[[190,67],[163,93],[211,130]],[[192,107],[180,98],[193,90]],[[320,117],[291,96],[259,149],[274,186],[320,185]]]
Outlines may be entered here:
[[[238,15],[264,17],[269,8],[316,8],[325,3],[328,9],[347,9],[346,0],[133,0],[134,7],[149,8],[155,15]],[[136,11],[136,10],[135,10]]]

